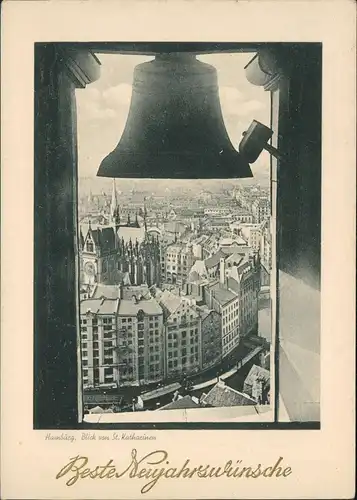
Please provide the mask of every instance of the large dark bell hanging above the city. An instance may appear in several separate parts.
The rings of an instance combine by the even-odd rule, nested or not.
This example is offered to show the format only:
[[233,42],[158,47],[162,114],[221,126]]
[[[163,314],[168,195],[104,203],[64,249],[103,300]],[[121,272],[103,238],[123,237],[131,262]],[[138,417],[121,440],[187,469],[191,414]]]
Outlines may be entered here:
[[98,176],[252,177],[224,126],[217,72],[193,54],[157,55],[134,70],[127,122]]

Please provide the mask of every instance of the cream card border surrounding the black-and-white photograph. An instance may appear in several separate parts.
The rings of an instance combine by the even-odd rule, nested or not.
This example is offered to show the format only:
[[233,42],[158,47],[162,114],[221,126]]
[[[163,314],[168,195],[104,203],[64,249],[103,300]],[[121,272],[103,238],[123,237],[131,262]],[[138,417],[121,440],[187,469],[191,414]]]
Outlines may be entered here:
[[[161,480],[147,498],[351,498],[354,485],[355,2],[5,2],[2,5],[1,487],[6,499],[138,498],[144,481],[56,472],[69,457],[118,469],[165,449],[174,466],[241,459],[285,479]],[[45,441],[32,430],[33,43],[88,40],[322,41],[321,431],[156,431],[155,441]],[[138,433],[137,433],[138,434]]]

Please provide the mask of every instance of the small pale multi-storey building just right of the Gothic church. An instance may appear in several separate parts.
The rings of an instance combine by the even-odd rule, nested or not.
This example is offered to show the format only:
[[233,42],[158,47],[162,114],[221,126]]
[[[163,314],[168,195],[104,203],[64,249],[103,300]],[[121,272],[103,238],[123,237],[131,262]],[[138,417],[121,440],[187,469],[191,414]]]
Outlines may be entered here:
[[164,250],[161,260],[164,283],[183,285],[194,263],[191,244],[173,243]]

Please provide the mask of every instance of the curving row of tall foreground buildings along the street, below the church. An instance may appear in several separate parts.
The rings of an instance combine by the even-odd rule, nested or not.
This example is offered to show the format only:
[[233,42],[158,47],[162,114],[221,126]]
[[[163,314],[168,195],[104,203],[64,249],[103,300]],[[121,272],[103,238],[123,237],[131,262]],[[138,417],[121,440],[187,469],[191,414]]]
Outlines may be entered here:
[[81,301],[85,386],[145,386],[219,364],[257,328],[260,274],[244,256],[217,259],[183,288],[94,285]]

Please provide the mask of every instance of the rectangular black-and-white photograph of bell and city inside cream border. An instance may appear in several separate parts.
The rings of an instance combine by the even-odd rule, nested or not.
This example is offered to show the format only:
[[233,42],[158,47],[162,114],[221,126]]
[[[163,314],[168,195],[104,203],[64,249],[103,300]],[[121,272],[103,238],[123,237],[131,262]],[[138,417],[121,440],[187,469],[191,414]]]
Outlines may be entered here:
[[89,424],[319,425],[321,57],[36,44],[35,386],[53,348]]

